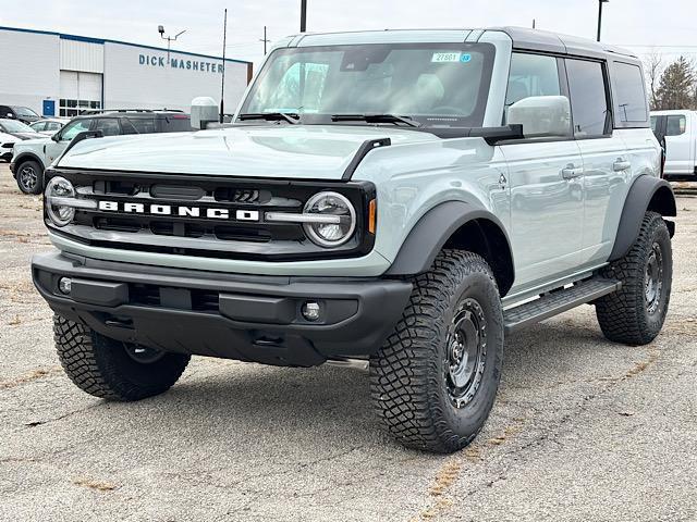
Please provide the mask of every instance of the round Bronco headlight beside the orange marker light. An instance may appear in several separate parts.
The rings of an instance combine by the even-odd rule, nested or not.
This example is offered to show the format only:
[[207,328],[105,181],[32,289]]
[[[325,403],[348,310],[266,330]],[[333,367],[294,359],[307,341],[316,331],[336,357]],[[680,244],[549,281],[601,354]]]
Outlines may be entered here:
[[316,194],[307,200],[303,213],[335,217],[332,222],[303,225],[307,236],[320,247],[343,245],[356,229],[356,211],[351,201],[338,192]]

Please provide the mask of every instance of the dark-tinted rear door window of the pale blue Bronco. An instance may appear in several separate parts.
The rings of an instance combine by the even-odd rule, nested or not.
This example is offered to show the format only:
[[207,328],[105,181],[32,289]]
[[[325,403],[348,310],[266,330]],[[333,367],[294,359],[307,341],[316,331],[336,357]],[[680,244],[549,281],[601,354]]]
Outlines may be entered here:
[[602,136],[608,130],[610,111],[606,79],[600,62],[566,60],[574,135],[578,138]]

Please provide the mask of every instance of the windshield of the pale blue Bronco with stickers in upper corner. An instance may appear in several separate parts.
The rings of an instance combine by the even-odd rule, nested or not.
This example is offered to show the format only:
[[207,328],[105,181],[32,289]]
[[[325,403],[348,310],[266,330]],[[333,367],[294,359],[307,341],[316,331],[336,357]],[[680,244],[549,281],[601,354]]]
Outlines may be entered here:
[[302,123],[392,114],[423,125],[481,126],[493,55],[490,44],[278,49],[240,113],[292,113]]

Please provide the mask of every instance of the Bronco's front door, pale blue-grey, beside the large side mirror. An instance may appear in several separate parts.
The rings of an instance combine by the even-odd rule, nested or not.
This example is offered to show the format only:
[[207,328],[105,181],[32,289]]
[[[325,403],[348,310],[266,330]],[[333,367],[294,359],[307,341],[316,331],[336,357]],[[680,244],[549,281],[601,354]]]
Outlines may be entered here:
[[[528,97],[568,98],[563,60],[514,52],[508,108]],[[583,161],[571,125],[565,137],[535,136],[501,144],[509,164],[511,243],[516,288],[571,275],[583,237]]]

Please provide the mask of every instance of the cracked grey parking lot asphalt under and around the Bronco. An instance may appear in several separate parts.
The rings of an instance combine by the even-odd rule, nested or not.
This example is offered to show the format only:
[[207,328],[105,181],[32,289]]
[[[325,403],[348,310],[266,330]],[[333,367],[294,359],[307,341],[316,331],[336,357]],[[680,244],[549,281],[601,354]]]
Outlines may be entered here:
[[506,340],[474,444],[406,450],[367,373],[194,358],[114,403],[62,373],[29,259],[40,197],[0,163],[0,520],[697,520],[697,199],[678,199],[668,322],[611,344],[591,307]]

